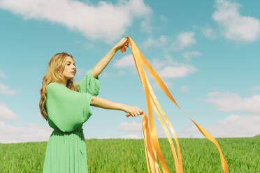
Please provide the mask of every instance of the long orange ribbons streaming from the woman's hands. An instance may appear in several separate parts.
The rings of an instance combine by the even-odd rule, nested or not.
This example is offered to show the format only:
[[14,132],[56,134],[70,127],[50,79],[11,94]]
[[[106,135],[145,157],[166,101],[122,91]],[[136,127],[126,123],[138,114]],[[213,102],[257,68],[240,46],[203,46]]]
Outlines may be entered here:
[[[158,142],[158,139],[157,139],[157,133],[156,133],[155,126],[154,126],[154,118],[153,118],[153,115],[152,115],[152,108],[153,108],[155,114],[157,115],[157,117],[158,117],[158,119],[161,123],[161,126],[164,128],[164,132],[166,133],[166,136],[168,138],[168,142],[171,145],[171,151],[173,153],[173,158],[174,158],[174,163],[175,163],[175,170],[176,170],[177,173],[183,173],[182,156],[180,154],[180,146],[179,146],[178,138],[176,136],[175,130],[173,130],[173,126],[171,126],[170,121],[168,120],[164,111],[161,109],[161,106],[159,105],[159,102],[158,102],[156,96],[154,95],[154,91],[152,90],[150,82],[147,79],[143,65],[145,65],[145,68],[147,68],[147,70],[152,75],[152,77],[157,82],[157,84],[159,84],[159,86],[164,91],[164,93],[166,93],[166,96],[168,96],[168,98],[170,98],[173,101],[173,103],[180,110],[182,110],[182,109],[176,103],[173,96],[171,96],[171,93],[170,93],[170,91],[168,91],[164,82],[161,80],[159,75],[157,75],[157,73],[154,71],[154,69],[152,68],[150,63],[148,63],[148,61],[145,59],[145,57],[140,52],[140,50],[138,49],[136,44],[133,42],[133,40],[129,36],[127,36],[127,38],[128,38],[127,43],[121,48],[121,52],[126,51],[126,47],[128,47],[128,42],[129,42],[130,47],[131,47],[131,52],[133,54],[133,60],[135,61],[136,68],[137,68],[137,71],[138,71],[138,75],[139,75],[140,80],[143,84],[143,88],[145,89],[145,98],[146,98],[146,103],[147,103],[150,130],[149,130],[149,126],[148,126],[148,119],[147,119],[147,116],[145,115],[145,113],[143,113],[143,115],[142,115],[142,126],[143,126],[143,140],[144,140],[144,143],[145,143],[145,156],[146,156],[146,163],[147,163],[148,172],[150,173],[150,169],[151,169],[152,173],[161,172],[159,165],[157,164],[157,156],[158,156],[159,161],[161,163],[161,167],[162,167],[163,172],[166,172],[166,173],[170,172],[170,170],[168,169],[168,166],[166,165],[166,161],[164,160],[164,156],[161,153],[161,148],[159,146],[159,142]],[[182,112],[184,112],[184,111],[182,110]],[[177,146],[178,155],[176,154],[175,146],[173,145],[171,135],[170,135],[170,133],[168,133],[168,129],[166,128],[166,124],[164,123],[161,115],[164,117],[164,120],[166,121],[168,127],[171,130],[171,133],[174,136],[175,143],[176,143],[176,146]],[[213,142],[217,146],[217,149],[219,151],[221,164],[222,164],[222,169],[224,170],[225,173],[227,173],[228,172],[228,165],[227,165],[226,160],[223,156],[222,150],[220,149],[220,146],[217,143],[217,141],[215,140],[215,138],[212,135],[210,135],[210,133],[208,133],[207,130],[205,130],[203,127],[201,127],[197,123],[195,123],[187,115],[187,113],[185,113],[185,115],[196,125],[198,130],[200,130],[201,133],[208,140],[210,140],[211,142]],[[127,117],[129,117],[129,116],[130,116],[130,114],[127,114]]]

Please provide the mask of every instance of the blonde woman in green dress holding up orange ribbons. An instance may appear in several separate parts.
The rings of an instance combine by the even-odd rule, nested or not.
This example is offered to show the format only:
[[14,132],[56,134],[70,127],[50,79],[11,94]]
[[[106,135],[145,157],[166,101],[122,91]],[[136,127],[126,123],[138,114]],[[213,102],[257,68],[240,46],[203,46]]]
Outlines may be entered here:
[[75,83],[74,58],[65,52],[55,54],[48,64],[40,90],[39,107],[43,118],[53,128],[48,141],[43,173],[87,172],[87,150],[82,124],[92,115],[90,105],[110,110],[122,110],[138,116],[143,110],[138,107],[114,103],[99,98],[99,74],[108,65],[120,48],[128,47],[127,38],[122,38],[99,63]]

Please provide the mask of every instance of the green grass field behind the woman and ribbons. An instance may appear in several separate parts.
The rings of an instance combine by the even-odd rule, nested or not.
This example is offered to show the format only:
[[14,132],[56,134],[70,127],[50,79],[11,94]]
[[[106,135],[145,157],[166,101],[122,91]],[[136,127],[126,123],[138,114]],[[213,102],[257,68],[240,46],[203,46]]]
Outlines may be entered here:
[[[215,139],[229,165],[229,172],[260,172],[260,137]],[[205,138],[178,140],[185,173],[223,172],[215,144]],[[159,138],[159,144],[169,170],[175,172],[168,140]],[[0,144],[0,172],[42,172],[46,145],[47,142]],[[143,140],[91,139],[86,140],[86,147],[90,173],[148,172]],[[159,166],[161,168],[160,163]]]

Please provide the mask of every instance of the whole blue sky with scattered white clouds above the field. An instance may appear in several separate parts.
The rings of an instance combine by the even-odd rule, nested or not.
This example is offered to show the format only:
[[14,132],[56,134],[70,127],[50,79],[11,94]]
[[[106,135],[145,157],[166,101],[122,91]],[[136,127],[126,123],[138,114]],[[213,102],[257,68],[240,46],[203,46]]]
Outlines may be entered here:
[[[22,4],[21,4],[22,3]],[[214,137],[260,133],[259,1],[0,0],[0,142],[48,141],[38,108],[48,62],[75,58],[78,82],[130,36],[178,105]],[[146,70],[147,74],[148,71]],[[178,137],[203,137],[148,75]],[[99,97],[138,106],[145,93],[131,51],[120,51],[99,75]],[[141,138],[141,116],[91,107],[86,139]],[[158,137],[166,137],[154,114]]]

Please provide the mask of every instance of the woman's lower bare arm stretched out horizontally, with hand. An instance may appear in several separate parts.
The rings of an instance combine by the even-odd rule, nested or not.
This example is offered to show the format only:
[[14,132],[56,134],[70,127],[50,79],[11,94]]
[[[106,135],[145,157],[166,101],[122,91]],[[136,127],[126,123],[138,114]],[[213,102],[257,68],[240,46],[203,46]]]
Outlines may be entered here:
[[143,110],[140,110],[139,107],[124,105],[122,103],[115,103],[96,96],[92,96],[90,105],[108,110],[122,110],[124,112],[130,113],[131,116],[138,116],[143,114]]

